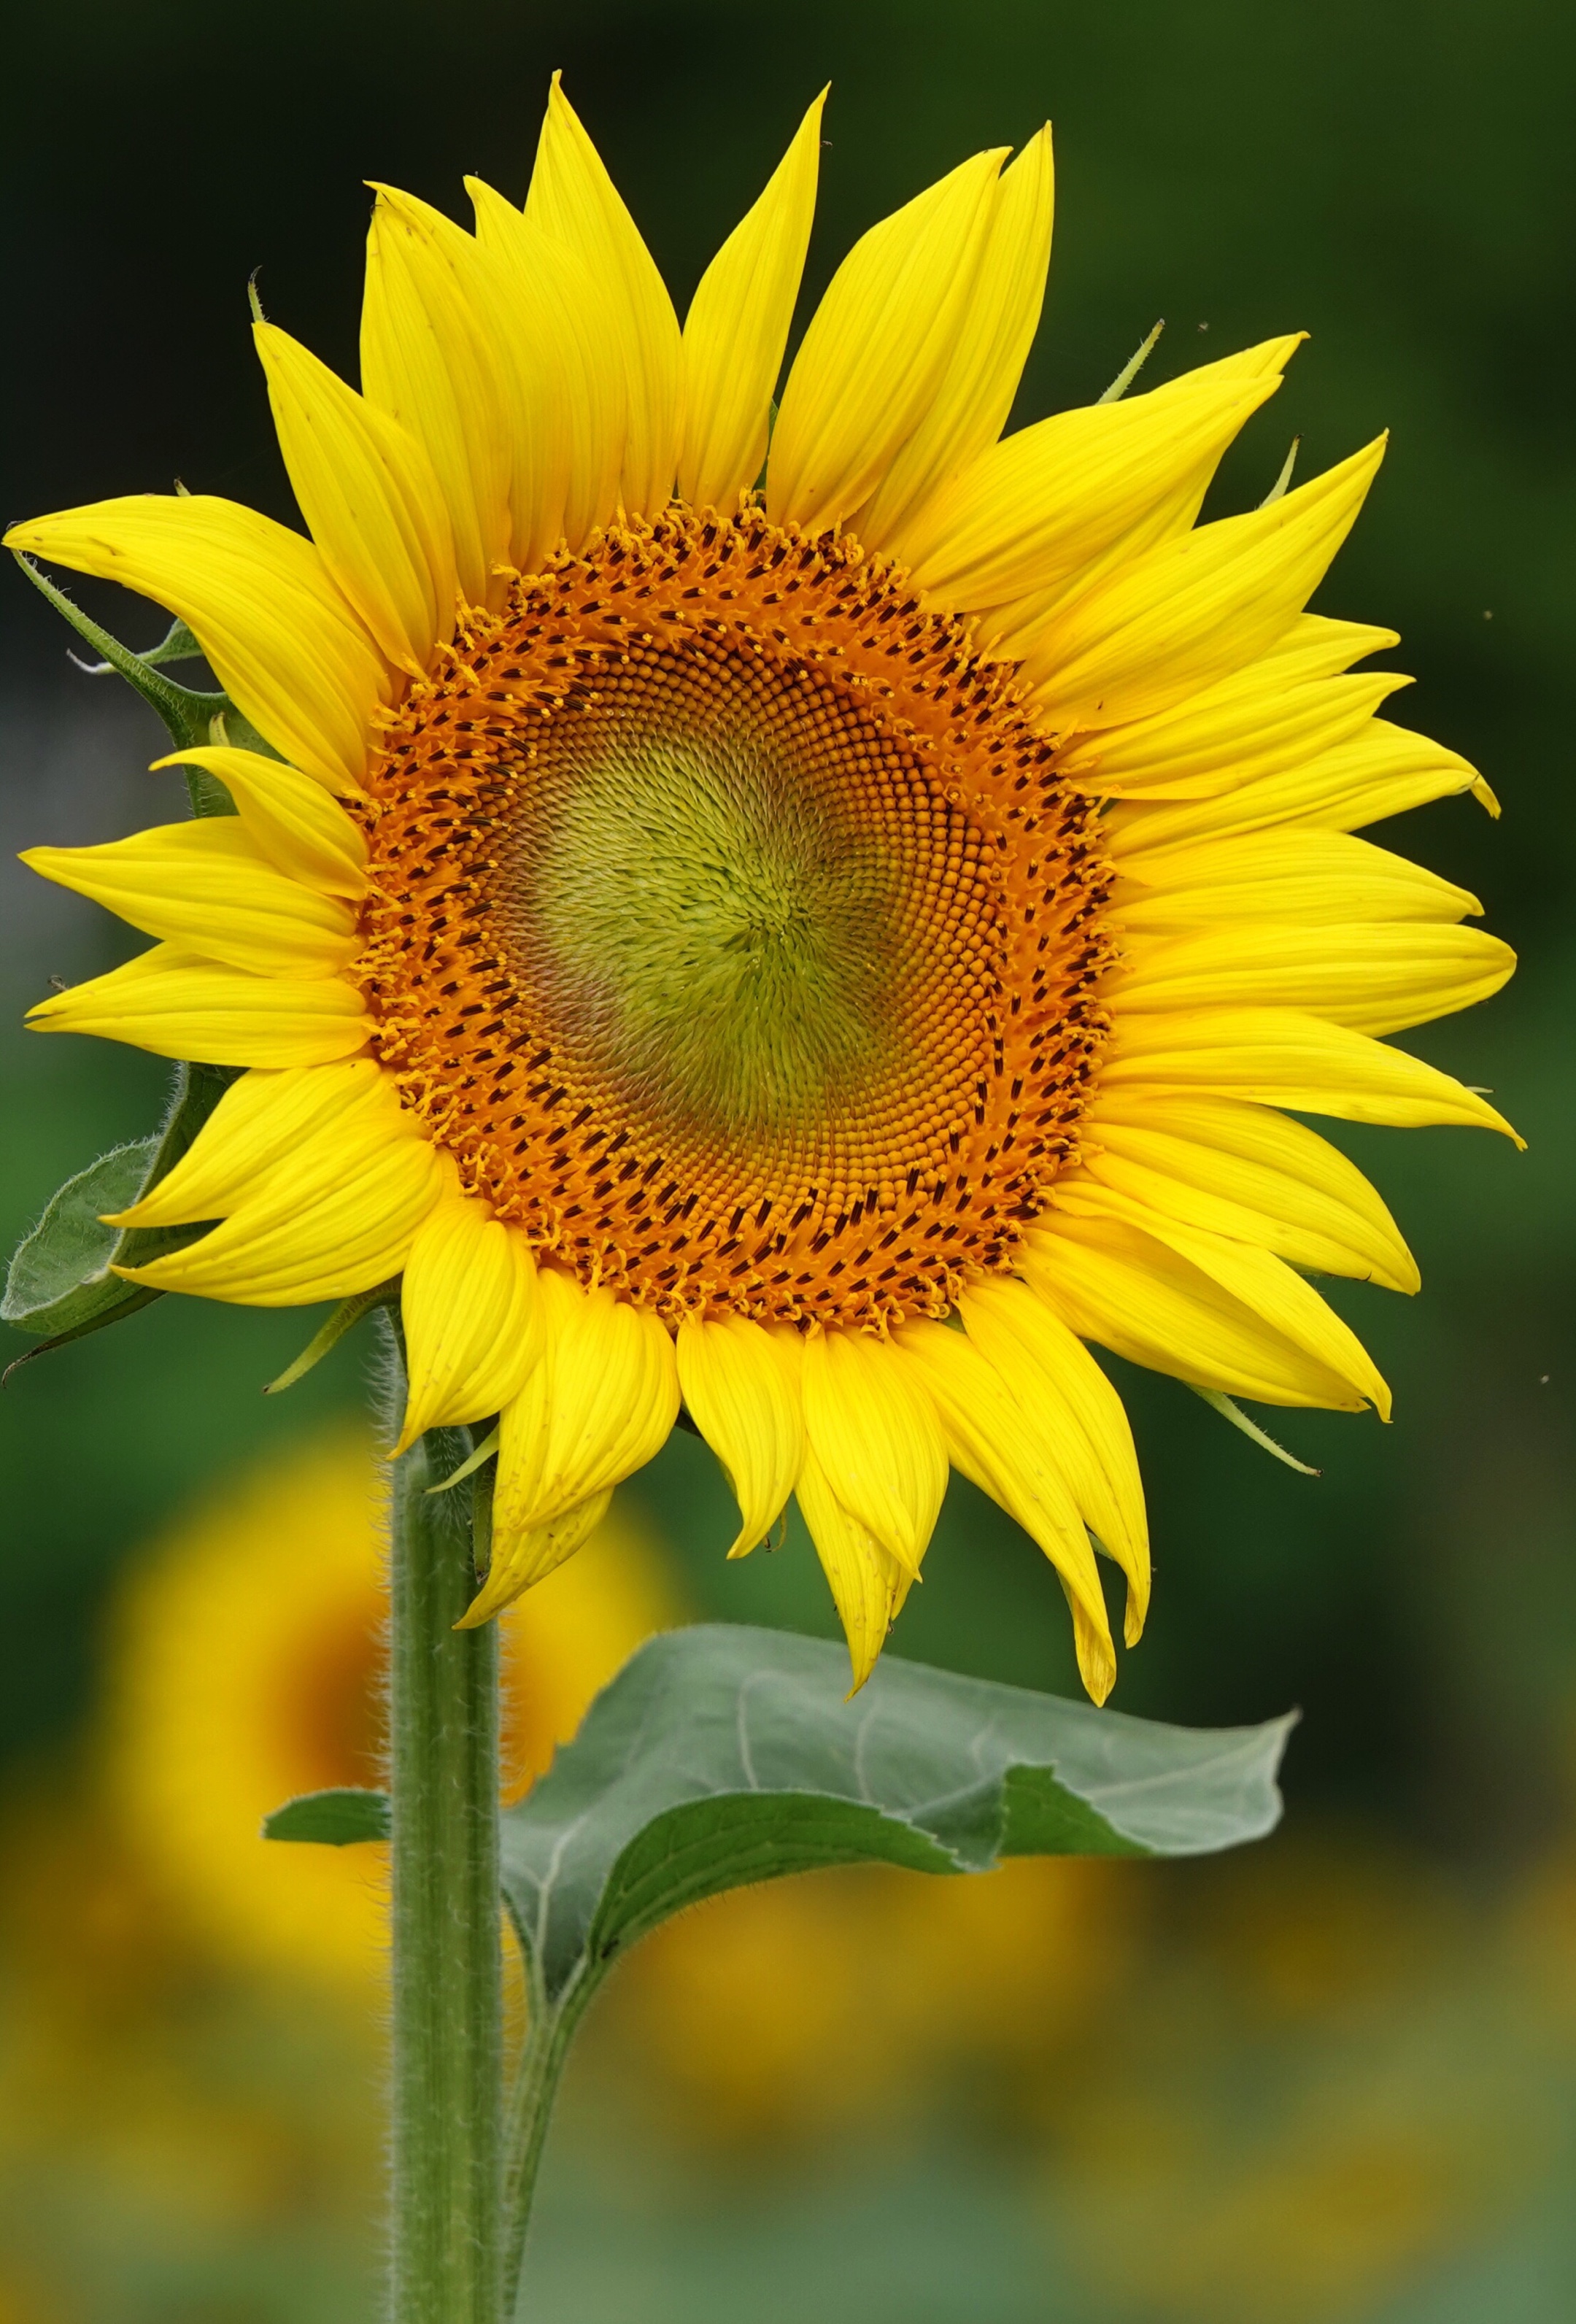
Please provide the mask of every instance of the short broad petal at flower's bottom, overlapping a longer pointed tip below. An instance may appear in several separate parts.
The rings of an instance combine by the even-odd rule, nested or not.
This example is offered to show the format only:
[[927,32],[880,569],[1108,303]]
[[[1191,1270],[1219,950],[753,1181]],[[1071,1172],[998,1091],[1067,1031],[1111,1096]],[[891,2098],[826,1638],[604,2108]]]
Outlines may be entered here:
[[804,1434],[828,1485],[907,1573],[946,1492],[946,1443],[911,1367],[865,1332],[804,1341]]

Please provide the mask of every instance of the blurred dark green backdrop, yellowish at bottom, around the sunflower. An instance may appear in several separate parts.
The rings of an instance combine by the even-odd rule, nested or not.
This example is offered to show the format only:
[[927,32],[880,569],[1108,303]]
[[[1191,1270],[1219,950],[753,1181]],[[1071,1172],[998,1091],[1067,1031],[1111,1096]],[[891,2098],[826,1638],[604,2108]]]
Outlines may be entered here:
[[[1313,335],[1211,509],[1262,497],[1292,432],[1309,474],[1395,430],[1318,604],[1402,630],[1397,667],[1420,683],[1399,716],[1504,799],[1499,825],[1446,802],[1395,837],[1483,895],[1523,953],[1506,995],[1418,1046],[1495,1088],[1530,1153],[1471,1132],[1337,1132],[1397,1211],[1425,1292],[1337,1292],[1392,1380],[1390,1429],[1262,1415],[1318,1480],[1174,1383],[1123,1371],[1158,1597],[1116,1703],[1199,1722],[1299,1703],[1285,1834],[1230,1866],[1058,1889],[1090,1941],[1046,1938],[1039,1975],[1007,1980],[990,2027],[941,2064],[916,2029],[967,2017],[986,1943],[958,1908],[934,1908],[958,1927],[930,2001],[888,2022],[893,1948],[930,1943],[932,1887],[904,1882],[918,1906],[900,1908],[886,1889],[800,1885],[818,1901],[774,1906],[765,1936],[697,1915],[688,1968],[676,1954],[632,1978],[572,2078],[535,2312],[1555,2324],[1576,2312],[1576,19],[1553,0],[19,12],[0,158],[5,514],[179,476],[291,516],[246,277],[260,267],[270,314],[353,376],[363,181],[463,214],[460,177],[479,172],[518,200],[556,65],[681,311],[830,79],[807,300],[918,186],[1055,121],[1055,256],[1020,421],[1099,393],[1158,316],[1151,381]],[[132,644],[160,632],[114,590],[79,595]],[[170,779],[144,774],[149,713],[70,667],[21,576],[2,630],[7,860],[170,813]],[[137,948],[91,906],[0,876],[5,1027],[51,976]],[[12,1234],[63,1176],[151,1127],[165,1076],[98,1043],[2,1039]],[[56,2027],[72,2057],[53,2082],[53,2052],[14,2089],[0,2080],[0,2324],[372,2315],[374,2010],[346,2031],[321,1996],[281,1999],[277,1980],[181,1950],[135,1871],[114,1873],[130,1843],[105,1838],[93,1806],[123,1571],[237,1469],[288,1469],[363,1399],[356,1341],[260,1399],[309,1329],[170,1299],[0,1397],[0,2022]],[[628,1501],[667,1541],[688,1611],[832,1627],[802,1541],[721,1564],[723,1487],[693,1441]],[[897,1650],[1074,1687],[1060,1592],[960,1485]],[[744,2003],[725,1959],[746,1985],[758,1964],[758,2022],[728,2015]],[[783,1964],[800,1980],[821,1964],[797,2001]],[[821,2015],[816,1978],[841,1994]],[[662,2033],[669,2020],[690,2031]],[[723,2036],[758,2057],[753,2113],[707,2080]],[[855,2071],[869,2043],[909,2059],[874,2094]],[[193,2180],[172,2110],[209,2159],[251,2152],[263,2110],[267,2168]]]

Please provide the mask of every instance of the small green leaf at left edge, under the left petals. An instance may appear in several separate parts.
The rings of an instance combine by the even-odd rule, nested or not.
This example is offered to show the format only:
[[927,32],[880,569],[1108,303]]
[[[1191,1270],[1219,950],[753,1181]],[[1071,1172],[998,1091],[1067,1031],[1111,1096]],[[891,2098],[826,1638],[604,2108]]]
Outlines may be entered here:
[[0,1297],[0,1320],[35,1332],[42,1341],[28,1348],[21,1362],[88,1332],[102,1332],[105,1325],[163,1299],[163,1292],[109,1274],[112,1264],[142,1267],[165,1250],[184,1250],[205,1232],[202,1225],[119,1229],[105,1227],[100,1213],[126,1211],[158,1185],[232,1081],[230,1067],[181,1064],[163,1129],[151,1139],[116,1146],[56,1190],[37,1227],[19,1243]]

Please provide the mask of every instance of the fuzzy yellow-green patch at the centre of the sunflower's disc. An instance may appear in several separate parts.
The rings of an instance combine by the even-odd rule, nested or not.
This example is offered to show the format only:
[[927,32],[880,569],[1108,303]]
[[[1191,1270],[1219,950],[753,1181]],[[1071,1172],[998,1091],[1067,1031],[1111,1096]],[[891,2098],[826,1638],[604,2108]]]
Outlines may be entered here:
[[646,1120],[802,1148],[902,1062],[893,834],[772,737],[600,741],[516,855],[511,951],[565,1057]]

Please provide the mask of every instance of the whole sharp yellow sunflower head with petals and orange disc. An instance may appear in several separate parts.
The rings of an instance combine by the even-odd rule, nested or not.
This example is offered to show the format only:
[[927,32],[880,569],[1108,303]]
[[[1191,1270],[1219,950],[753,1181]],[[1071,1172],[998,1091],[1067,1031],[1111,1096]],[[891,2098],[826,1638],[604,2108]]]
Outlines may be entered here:
[[[523,209],[377,188],[360,395],[258,321],[309,537],[207,495],[9,546],[181,616],[277,755],[235,818],[37,848],[160,939],[33,1025],[242,1067],[126,1269],[260,1306],[402,1276],[402,1443],[497,1415],[481,1622],[681,1406],[800,1508],[860,1683],[948,1466],[1148,1599],[1097,1341],[1381,1413],[1309,1271],[1416,1287],[1276,1109],[1506,1122],[1381,1034],[1495,992],[1462,888],[1353,832],[1455,753],[1304,614],[1383,444],[1195,523],[1297,335],[1002,437],[1051,139],[874,225],[779,381],[821,102],[683,328],[553,84]],[[160,760],[170,765],[170,760]]]

